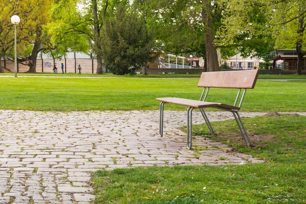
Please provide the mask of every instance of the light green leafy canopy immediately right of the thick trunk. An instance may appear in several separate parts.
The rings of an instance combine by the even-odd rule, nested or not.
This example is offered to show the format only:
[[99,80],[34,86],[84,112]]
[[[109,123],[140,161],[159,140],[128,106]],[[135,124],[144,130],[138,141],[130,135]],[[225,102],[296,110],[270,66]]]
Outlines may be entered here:
[[271,15],[258,2],[233,0],[226,5],[217,32],[218,46],[239,50],[243,57],[264,58],[271,54],[275,44],[273,28],[267,27]]

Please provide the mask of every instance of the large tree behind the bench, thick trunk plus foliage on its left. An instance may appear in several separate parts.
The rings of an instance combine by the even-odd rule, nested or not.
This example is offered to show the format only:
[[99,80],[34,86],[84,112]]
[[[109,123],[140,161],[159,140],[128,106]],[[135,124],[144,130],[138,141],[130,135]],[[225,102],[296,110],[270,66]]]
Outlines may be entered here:
[[177,54],[196,52],[207,59],[208,71],[219,70],[215,34],[220,27],[225,1],[150,1],[157,37]]

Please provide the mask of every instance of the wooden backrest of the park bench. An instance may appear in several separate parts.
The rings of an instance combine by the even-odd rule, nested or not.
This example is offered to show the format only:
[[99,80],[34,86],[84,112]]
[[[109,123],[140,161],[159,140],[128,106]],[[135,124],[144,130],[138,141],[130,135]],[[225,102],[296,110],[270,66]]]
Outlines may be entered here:
[[259,70],[202,72],[198,87],[253,89]]

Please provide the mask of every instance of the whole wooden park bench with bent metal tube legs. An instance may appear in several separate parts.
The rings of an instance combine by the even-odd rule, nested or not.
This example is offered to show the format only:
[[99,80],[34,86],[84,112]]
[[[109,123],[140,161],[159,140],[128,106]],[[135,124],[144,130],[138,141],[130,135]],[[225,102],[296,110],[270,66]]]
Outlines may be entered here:
[[[160,135],[163,136],[163,121],[164,121],[164,104],[177,104],[182,106],[187,106],[187,147],[192,148],[192,110],[199,109],[211,134],[215,133],[207,114],[203,110],[204,108],[216,108],[224,111],[232,112],[236,122],[238,124],[239,130],[246,145],[253,146],[246,132],[244,124],[238,113],[242,105],[243,98],[245,96],[247,89],[253,89],[257,78],[259,70],[239,70],[239,71],[217,71],[217,72],[202,72],[198,87],[204,87],[201,94],[200,100],[190,100],[185,98],[157,98],[157,100],[162,101],[160,104]],[[236,88],[238,94],[234,105],[227,105],[222,103],[207,102],[206,98],[210,88]],[[242,96],[240,97],[241,90],[244,89]],[[237,106],[238,100],[239,105]]]

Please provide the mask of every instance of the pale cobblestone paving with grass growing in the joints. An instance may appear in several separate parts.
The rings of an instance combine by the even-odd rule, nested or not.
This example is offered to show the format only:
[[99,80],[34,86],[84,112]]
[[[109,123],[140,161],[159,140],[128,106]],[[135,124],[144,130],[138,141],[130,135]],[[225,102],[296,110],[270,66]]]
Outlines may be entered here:
[[[195,154],[177,129],[186,125],[185,114],[165,111],[165,136],[160,137],[158,111],[0,110],[0,204],[91,203],[88,172],[99,169],[263,162],[201,137],[193,140],[202,149]],[[212,121],[231,117],[226,112],[208,116]],[[199,113],[194,112],[193,122],[203,122]]]

